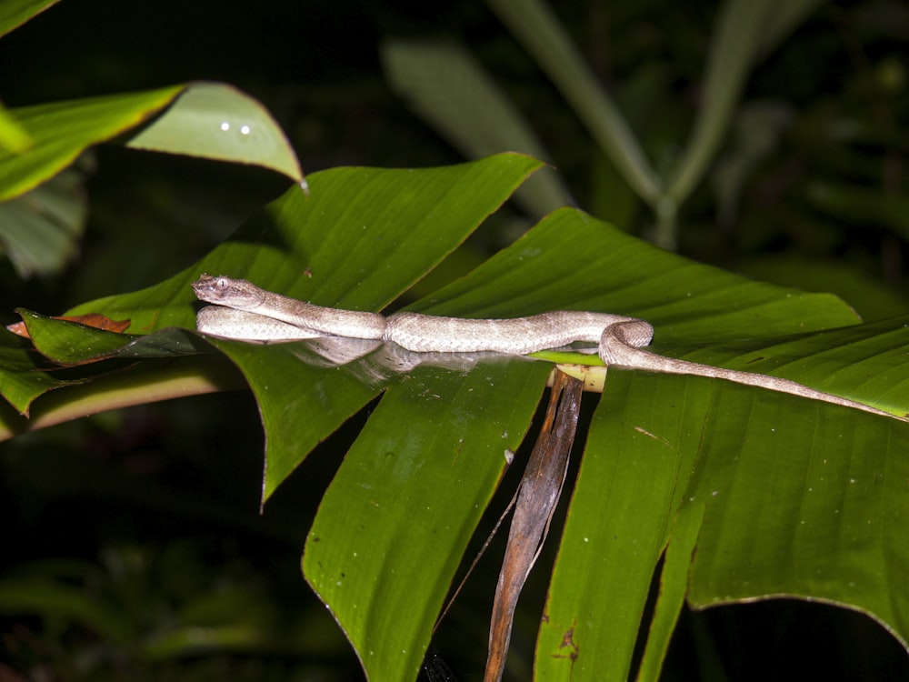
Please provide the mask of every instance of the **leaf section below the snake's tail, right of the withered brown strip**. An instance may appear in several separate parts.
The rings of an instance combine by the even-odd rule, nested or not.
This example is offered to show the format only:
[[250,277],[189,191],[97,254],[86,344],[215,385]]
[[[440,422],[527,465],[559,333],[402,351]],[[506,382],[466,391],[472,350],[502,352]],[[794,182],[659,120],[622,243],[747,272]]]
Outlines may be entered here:
[[[538,674],[627,678],[667,543],[639,679],[658,678],[666,626],[686,583],[700,607],[780,596],[847,605],[903,633],[905,645],[906,537],[883,527],[907,511],[907,426],[799,405],[793,396],[661,378],[663,386],[654,376],[610,377],[617,390],[604,395],[584,452],[537,645]],[[868,461],[873,452],[881,454]],[[853,476],[867,476],[863,491],[849,489],[861,480],[845,482]],[[674,517],[684,519],[677,535]],[[692,556],[688,577],[679,564]],[[609,616],[596,617],[603,613]],[[565,656],[569,630],[574,660]]]

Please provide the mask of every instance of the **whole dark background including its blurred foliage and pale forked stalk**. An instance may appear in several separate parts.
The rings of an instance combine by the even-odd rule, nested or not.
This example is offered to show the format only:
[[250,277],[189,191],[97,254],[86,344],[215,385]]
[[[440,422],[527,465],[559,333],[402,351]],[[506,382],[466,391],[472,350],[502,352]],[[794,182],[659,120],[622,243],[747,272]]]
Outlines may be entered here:
[[[0,40],[0,97],[15,108],[223,80],[270,109],[307,172],[528,151],[557,172],[494,216],[462,267],[571,202],[686,256],[834,291],[874,319],[907,311],[907,37],[909,9],[895,0],[570,0],[554,10],[524,0],[71,0]],[[45,196],[0,205],[0,321],[15,321],[14,306],[50,314],[153,284],[285,186],[252,167],[98,147],[35,190]],[[15,229],[42,235],[43,248],[17,251]],[[259,434],[255,406],[236,395],[5,444],[9,674],[355,677],[298,571],[317,491],[350,435],[258,517]],[[538,617],[529,602],[530,625],[514,637],[525,661]],[[482,669],[485,641],[484,616],[469,606],[440,645],[467,678]],[[793,651],[828,678],[906,670],[878,627],[826,607],[737,607],[689,614],[683,626],[667,679],[720,668],[785,677]]]

